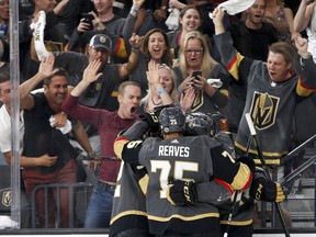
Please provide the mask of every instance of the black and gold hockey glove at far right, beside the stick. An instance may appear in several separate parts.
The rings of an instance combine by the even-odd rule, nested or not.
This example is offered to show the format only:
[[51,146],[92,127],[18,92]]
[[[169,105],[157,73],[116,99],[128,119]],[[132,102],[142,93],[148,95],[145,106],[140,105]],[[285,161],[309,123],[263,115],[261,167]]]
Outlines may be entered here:
[[249,194],[252,199],[266,202],[282,202],[285,194],[278,182],[259,178],[252,181]]

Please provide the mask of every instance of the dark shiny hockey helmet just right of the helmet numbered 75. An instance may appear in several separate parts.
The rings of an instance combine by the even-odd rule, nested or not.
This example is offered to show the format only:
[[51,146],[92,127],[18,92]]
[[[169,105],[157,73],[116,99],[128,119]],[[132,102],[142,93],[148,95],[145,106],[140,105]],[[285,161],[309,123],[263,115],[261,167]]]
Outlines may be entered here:
[[214,136],[216,129],[213,119],[201,112],[188,114],[185,117],[185,135]]

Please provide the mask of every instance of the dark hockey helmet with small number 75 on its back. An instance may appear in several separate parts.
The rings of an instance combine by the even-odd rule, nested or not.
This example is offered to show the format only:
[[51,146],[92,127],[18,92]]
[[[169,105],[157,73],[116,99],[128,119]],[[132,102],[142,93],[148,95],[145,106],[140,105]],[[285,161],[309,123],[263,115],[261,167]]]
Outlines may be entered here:
[[159,124],[162,134],[182,133],[185,115],[179,106],[165,108],[159,114]]

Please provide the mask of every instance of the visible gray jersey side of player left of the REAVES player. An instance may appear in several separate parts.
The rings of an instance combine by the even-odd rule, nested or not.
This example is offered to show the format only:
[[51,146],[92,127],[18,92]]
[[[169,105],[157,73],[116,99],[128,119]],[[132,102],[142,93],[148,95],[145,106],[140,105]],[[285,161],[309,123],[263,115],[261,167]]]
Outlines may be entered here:
[[147,171],[143,166],[121,162],[114,192],[110,237],[153,237],[146,212]]

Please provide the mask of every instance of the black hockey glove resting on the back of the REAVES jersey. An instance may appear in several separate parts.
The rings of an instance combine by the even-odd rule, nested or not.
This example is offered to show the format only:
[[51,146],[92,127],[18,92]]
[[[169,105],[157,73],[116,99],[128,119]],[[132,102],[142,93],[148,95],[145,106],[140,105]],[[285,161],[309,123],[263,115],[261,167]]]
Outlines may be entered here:
[[176,180],[168,185],[167,200],[172,205],[192,204],[198,200],[195,183],[192,181]]

